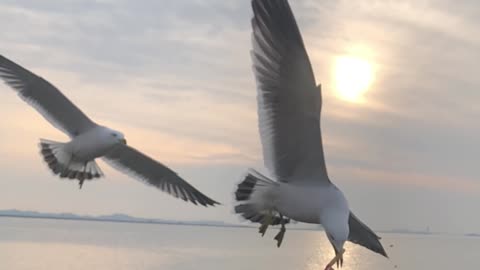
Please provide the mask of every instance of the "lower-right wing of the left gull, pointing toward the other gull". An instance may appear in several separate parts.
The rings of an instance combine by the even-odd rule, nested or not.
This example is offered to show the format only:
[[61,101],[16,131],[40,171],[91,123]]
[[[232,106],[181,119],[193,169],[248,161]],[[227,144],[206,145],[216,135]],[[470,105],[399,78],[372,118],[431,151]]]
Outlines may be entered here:
[[184,201],[203,206],[218,202],[208,198],[174,171],[127,145],[118,144],[104,156],[114,168],[132,175]]

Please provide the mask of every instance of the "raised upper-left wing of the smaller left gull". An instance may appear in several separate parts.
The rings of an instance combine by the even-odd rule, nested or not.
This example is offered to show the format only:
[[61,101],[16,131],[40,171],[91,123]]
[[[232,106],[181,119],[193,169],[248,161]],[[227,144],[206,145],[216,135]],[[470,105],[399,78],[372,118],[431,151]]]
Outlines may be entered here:
[[72,138],[96,126],[55,86],[2,55],[0,78],[52,125]]

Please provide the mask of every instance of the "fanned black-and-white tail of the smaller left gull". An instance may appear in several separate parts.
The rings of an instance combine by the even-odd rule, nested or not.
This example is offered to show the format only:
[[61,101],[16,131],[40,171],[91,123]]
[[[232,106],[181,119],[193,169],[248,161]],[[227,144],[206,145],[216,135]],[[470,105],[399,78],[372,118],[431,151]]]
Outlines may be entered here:
[[94,160],[81,162],[75,160],[65,143],[40,140],[40,153],[52,172],[60,178],[77,179],[82,187],[83,181],[100,178],[103,172]]

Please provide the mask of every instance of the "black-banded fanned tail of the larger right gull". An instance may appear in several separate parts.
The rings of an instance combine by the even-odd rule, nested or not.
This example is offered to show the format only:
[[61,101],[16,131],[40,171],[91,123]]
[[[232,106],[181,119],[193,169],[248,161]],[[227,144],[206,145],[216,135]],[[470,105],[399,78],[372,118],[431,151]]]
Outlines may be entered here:
[[[235,213],[251,222],[261,223],[268,211],[272,210],[272,197],[278,183],[255,170],[250,170],[235,191]],[[284,219],[284,224],[289,220]],[[271,225],[278,225],[282,218],[276,214]]]

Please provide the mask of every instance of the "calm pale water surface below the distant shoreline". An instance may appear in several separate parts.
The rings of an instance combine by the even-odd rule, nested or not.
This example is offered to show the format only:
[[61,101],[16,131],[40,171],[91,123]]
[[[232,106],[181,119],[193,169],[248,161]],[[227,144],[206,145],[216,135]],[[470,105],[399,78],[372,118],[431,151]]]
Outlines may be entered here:
[[[323,270],[323,232],[0,217],[0,269]],[[348,244],[343,269],[480,269],[480,238],[384,234],[387,260]],[[393,247],[390,245],[393,244]]]

